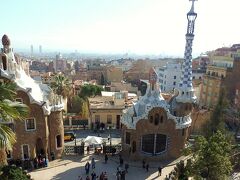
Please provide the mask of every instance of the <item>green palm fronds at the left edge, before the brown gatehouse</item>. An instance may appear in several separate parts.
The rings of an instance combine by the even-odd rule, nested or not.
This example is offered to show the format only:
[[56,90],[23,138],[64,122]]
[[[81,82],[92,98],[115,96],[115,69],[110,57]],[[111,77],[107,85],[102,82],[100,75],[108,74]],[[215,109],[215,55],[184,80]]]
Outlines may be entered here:
[[0,165],[6,164],[6,150],[11,150],[16,142],[15,133],[6,125],[11,120],[22,120],[28,116],[25,104],[15,102],[16,84],[0,83]]

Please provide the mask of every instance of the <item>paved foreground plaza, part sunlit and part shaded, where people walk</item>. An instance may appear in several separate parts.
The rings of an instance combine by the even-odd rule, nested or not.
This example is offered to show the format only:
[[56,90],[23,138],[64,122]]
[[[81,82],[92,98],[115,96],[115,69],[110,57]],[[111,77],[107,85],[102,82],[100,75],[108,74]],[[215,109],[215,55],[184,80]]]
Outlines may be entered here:
[[[97,175],[101,172],[107,172],[109,180],[116,179],[116,169],[118,167],[118,157],[109,157],[107,164],[104,163],[104,157],[102,155],[90,155],[90,156],[66,156],[63,159],[55,160],[50,162],[49,167],[44,169],[39,169],[31,172],[31,176],[34,180],[77,180],[78,176],[82,176],[85,180],[85,169],[84,166],[87,161],[91,161],[91,158],[96,159],[96,169]],[[183,159],[183,157],[181,158]],[[157,173],[158,163],[149,163],[149,172],[142,169],[141,162],[128,162],[129,173],[126,174],[126,180],[161,180],[166,177],[172,170],[178,160],[165,165],[163,169],[162,176],[159,177]],[[125,161],[124,161],[125,162]]]

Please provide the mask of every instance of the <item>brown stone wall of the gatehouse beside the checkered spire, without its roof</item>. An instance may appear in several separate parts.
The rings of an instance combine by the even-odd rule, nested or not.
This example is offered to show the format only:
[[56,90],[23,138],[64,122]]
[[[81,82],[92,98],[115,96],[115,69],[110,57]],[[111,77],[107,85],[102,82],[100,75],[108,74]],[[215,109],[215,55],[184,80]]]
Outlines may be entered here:
[[[163,116],[162,121],[156,125],[151,116],[159,113]],[[126,144],[126,132],[130,132],[130,144]],[[132,160],[166,160],[177,158],[181,155],[185,142],[189,134],[189,128],[175,129],[175,123],[171,119],[167,119],[165,110],[163,108],[154,108],[149,113],[148,119],[142,119],[137,123],[136,130],[131,130],[123,126],[122,128],[122,146],[123,155],[129,156]],[[165,152],[160,155],[149,155],[142,152],[141,141],[142,136],[147,134],[163,134],[167,136],[167,146]],[[133,147],[136,144],[136,149]],[[130,152],[131,151],[131,152]]]

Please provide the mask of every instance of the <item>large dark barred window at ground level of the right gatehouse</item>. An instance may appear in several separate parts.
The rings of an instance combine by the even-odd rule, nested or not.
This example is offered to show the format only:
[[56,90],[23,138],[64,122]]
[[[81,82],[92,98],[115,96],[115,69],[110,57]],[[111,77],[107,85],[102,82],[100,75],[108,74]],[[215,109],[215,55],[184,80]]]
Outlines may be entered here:
[[164,134],[147,134],[142,136],[142,152],[157,155],[167,149],[167,136]]

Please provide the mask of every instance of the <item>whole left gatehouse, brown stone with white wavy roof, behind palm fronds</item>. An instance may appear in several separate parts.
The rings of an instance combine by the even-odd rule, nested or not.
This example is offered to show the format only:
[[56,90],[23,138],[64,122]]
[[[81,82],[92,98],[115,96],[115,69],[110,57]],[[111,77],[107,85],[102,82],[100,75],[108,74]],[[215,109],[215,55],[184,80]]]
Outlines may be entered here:
[[[8,158],[26,160],[33,159],[39,154],[43,156],[54,154],[55,158],[61,157],[64,147],[62,117],[64,105],[61,97],[56,96],[47,85],[36,83],[26,74],[13,49],[10,48],[7,35],[3,36],[2,44],[0,82],[16,83],[15,101],[29,107],[29,116],[24,120],[3,122],[15,131],[17,140]],[[1,152],[0,159],[3,157]]]

